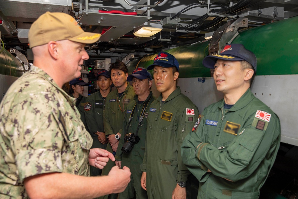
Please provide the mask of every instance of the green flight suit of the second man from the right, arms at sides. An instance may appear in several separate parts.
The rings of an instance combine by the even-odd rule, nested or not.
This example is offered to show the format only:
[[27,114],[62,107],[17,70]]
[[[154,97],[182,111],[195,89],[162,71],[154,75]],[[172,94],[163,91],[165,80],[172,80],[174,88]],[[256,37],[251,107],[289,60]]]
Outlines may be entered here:
[[181,144],[198,118],[198,108],[180,87],[166,101],[162,95],[152,102],[147,118],[146,151],[141,170],[147,172],[150,199],[172,198],[177,182],[187,181],[190,172],[182,163]]

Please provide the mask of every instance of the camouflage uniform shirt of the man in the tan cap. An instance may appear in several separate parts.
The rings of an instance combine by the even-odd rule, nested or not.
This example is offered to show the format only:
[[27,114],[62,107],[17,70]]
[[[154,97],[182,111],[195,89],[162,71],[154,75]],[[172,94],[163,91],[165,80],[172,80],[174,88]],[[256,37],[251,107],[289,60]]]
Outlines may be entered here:
[[38,67],[18,78],[0,104],[0,198],[28,198],[24,179],[66,172],[89,175],[92,138],[75,98]]

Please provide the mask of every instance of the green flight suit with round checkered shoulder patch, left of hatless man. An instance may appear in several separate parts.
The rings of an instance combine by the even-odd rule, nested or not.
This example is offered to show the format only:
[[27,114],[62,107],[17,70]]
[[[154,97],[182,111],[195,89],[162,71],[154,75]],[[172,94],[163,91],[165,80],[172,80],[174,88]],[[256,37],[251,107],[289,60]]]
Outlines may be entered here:
[[[98,141],[98,136],[95,134],[97,131],[105,132],[103,128],[103,109],[105,107],[105,98],[101,95],[100,91],[89,95],[85,104],[85,118],[86,123],[93,139],[92,149],[100,148],[106,149],[107,144],[101,144]],[[97,176],[101,174],[102,169],[90,166],[90,175]]]

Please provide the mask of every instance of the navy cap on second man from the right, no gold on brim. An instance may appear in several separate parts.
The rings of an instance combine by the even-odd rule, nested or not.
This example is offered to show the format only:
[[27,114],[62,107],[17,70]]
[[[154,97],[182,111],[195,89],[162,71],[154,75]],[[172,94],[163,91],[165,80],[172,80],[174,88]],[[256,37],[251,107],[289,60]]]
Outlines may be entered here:
[[161,66],[165,68],[176,67],[179,71],[179,63],[177,59],[167,52],[160,52],[154,58],[153,64],[147,67],[147,70],[152,70],[154,66]]

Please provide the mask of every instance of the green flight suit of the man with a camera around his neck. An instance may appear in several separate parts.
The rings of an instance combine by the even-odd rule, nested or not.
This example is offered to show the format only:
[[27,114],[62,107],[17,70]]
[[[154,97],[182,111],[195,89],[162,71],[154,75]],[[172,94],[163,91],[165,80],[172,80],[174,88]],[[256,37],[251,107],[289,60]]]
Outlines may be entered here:
[[[144,153],[145,153],[145,141],[146,141],[146,131],[147,131],[147,117],[148,112],[150,109],[150,104],[156,100],[156,97],[150,94],[148,98],[142,103],[139,104],[138,96],[134,97],[134,100],[130,102],[126,107],[126,114],[123,121],[123,128],[122,128],[122,136],[119,140],[119,145],[117,148],[116,153],[116,160],[122,161],[121,168],[123,166],[127,166],[131,170],[131,181],[129,182],[128,186],[126,187],[125,191],[119,194],[118,199],[129,199],[134,198],[134,193],[136,194],[136,199],[147,199],[147,192],[141,186],[141,177],[142,171],[140,169],[140,165],[143,163]],[[144,107],[145,103],[148,101],[148,105],[140,124],[138,130],[138,136],[140,141],[137,144],[134,144],[133,148],[129,153],[123,153],[121,148],[124,144],[124,134],[127,129],[128,121],[131,116],[131,112],[134,109],[134,115],[132,121],[129,124],[127,133],[134,133],[136,135],[136,129],[139,126],[139,117],[142,113],[142,108]],[[134,108],[135,107],[135,108]]]

